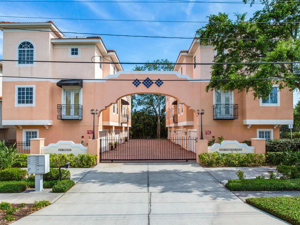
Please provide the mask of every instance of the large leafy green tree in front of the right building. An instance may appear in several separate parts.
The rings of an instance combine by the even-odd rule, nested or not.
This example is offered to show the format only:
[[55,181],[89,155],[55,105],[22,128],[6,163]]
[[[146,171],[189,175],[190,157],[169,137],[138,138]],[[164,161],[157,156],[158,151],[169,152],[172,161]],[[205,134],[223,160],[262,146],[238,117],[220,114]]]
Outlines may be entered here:
[[[243,1],[244,3],[251,2],[251,5],[254,3],[254,0]],[[215,46],[217,55],[214,57],[214,62],[300,61],[300,40],[297,40],[300,31],[300,4],[281,0],[259,1],[263,4],[263,9],[256,11],[249,20],[246,20],[246,13],[236,13],[235,21],[229,19],[226,13],[218,13],[208,16],[209,22],[196,31],[199,38],[212,38],[200,42]],[[232,40],[236,38],[252,40]],[[226,49],[225,53],[224,49]],[[214,64],[211,68],[212,79],[283,79],[210,81],[206,87],[207,91],[214,88],[224,91],[237,89],[240,92],[253,91],[255,98],[264,98],[271,92],[274,82],[279,84],[280,89],[300,88],[300,79],[296,78],[300,75],[299,64]],[[290,77],[292,79],[289,79]]]

